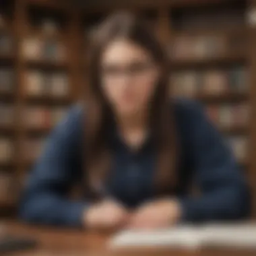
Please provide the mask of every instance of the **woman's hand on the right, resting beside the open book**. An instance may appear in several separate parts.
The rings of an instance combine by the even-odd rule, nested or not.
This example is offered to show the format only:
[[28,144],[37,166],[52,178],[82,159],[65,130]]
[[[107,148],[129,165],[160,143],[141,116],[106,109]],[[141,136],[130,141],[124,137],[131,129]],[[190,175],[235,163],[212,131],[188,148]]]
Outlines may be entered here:
[[174,199],[160,199],[139,207],[131,216],[127,228],[165,228],[179,222],[181,206]]

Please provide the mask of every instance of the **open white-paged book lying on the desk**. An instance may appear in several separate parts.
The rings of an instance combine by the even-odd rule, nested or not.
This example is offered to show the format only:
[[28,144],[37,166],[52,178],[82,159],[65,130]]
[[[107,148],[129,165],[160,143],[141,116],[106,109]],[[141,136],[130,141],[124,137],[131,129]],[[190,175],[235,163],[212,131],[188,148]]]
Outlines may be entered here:
[[203,226],[174,226],[164,230],[123,230],[110,239],[117,247],[232,247],[255,249],[255,224],[206,224]]

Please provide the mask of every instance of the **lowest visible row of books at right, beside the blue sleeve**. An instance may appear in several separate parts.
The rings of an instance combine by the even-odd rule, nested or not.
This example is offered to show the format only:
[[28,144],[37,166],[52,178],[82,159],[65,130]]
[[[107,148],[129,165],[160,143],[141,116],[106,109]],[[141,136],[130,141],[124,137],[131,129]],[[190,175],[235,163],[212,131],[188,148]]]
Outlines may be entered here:
[[248,138],[246,136],[230,136],[226,140],[238,162],[246,161],[249,146]]

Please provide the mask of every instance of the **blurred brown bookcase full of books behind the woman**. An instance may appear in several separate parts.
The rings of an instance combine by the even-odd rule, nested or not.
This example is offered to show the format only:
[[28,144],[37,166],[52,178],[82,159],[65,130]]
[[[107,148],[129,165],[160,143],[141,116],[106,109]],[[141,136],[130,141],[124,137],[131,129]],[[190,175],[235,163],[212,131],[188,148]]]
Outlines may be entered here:
[[0,215],[15,214],[45,138],[85,91],[88,36],[119,8],[148,20],[170,97],[205,106],[255,191],[256,1],[0,0]]

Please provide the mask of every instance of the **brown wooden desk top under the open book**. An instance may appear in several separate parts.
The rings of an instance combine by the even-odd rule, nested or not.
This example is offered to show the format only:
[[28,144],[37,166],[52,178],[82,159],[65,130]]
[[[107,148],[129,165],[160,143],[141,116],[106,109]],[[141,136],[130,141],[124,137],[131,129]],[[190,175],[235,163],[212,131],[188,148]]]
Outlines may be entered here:
[[36,249],[6,253],[8,256],[255,256],[256,251],[244,250],[200,250],[177,251],[172,249],[108,249],[106,243],[108,235],[88,233],[83,230],[67,230],[63,228],[47,228],[42,226],[27,226],[14,222],[7,222],[7,232],[24,235],[38,240]]

